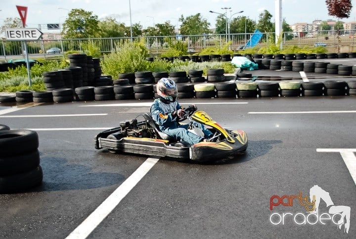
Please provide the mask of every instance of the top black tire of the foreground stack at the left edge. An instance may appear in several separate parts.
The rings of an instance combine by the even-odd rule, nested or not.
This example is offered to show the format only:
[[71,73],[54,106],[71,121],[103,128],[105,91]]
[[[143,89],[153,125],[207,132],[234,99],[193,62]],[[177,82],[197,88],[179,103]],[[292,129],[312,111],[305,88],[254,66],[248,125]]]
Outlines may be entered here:
[[2,130],[0,131],[0,157],[14,156],[36,150],[39,138],[32,130]]

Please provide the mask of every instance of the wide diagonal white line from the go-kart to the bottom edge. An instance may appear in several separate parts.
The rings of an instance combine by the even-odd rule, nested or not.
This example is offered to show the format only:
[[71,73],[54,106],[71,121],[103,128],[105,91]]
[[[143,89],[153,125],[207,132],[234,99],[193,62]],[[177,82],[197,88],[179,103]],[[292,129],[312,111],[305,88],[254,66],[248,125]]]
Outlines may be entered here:
[[66,239],[85,239],[114,210],[120,201],[158,162],[159,158],[147,158],[105,201],[103,201]]

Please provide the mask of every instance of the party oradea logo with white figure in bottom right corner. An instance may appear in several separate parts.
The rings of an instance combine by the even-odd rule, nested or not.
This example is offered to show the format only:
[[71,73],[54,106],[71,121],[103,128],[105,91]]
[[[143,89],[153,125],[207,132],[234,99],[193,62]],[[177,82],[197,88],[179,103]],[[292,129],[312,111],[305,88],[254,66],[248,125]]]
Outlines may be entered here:
[[[278,213],[275,212],[269,216],[269,222],[273,225],[284,225],[287,221],[294,221],[297,225],[315,225],[320,223],[322,225],[337,225],[341,230],[344,225],[344,233],[349,233],[350,229],[350,212],[349,206],[336,206],[331,200],[329,192],[323,190],[317,185],[314,185],[309,191],[308,195],[302,196],[302,192],[295,195],[273,195],[269,199],[269,209],[272,211],[277,206],[300,206],[302,205],[306,212],[293,214],[290,212]],[[319,215],[319,203],[322,199],[329,208],[329,213],[322,213]],[[279,208],[280,209],[280,208]],[[330,223],[331,222],[331,223]]]

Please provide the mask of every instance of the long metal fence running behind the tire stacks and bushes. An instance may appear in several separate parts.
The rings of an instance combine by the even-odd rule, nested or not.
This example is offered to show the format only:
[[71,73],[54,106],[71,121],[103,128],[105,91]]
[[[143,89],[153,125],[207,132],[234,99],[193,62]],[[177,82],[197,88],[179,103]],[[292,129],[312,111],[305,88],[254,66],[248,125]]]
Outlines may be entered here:
[[[256,46],[246,46],[246,43],[252,37],[252,33],[242,34],[216,34],[216,35],[195,35],[195,36],[167,36],[167,37],[136,37],[136,38],[100,38],[100,39],[62,39],[62,40],[38,40],[28,41],[27,48],[30,55],[38,57],[53,57],[53,54],[46,54],[49,48],[60,48],[61,52],[83,50],[85,45],[91,44],[100,49],[102,54],[115,51],[123,44],[130,41],[140,41],[142,38],[145,41],[149,53],[158,55],[168,49],[167,38],[184,41],[188,45],[187,54],[194,54],[208,47],[221,48],[226,46],[229,41],[229,49],[235,52],[243,49],[244,47],[268,47],[274,45],[274,33],[262,33],[262,38]],[[355,46],[354,34],[346,34],[338,31],[317,31],[317,32],[286,32],[282,36],[282,45],[297,45],[299,47],[315,47],[317,45],[325,45],[326,47],[339,47],[339,46]],[[316,45],[317,44],[317,45]],[[13,56],[23,56],[24,51],[22,44],[19,41],[0,41],[0,59],[11,59]],[[57,55],[62,56],[62,55]],[[63,57],[63,56],[62,56]]]

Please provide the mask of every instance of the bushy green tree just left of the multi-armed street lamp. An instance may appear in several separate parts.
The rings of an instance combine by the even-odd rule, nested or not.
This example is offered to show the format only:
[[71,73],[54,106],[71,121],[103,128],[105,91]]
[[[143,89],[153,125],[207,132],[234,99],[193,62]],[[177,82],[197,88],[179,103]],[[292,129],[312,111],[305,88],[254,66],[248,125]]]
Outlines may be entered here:
[[210,23],[207,19],[202,18],[200,13],[187,16],[186,18],[181,15],[179,21],[181,22],[180,33],[182,35],[202,35],[210,33]]

